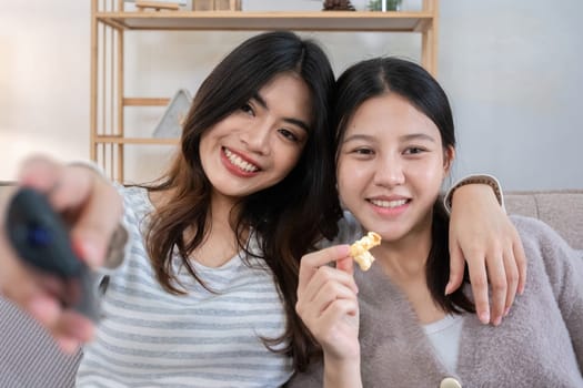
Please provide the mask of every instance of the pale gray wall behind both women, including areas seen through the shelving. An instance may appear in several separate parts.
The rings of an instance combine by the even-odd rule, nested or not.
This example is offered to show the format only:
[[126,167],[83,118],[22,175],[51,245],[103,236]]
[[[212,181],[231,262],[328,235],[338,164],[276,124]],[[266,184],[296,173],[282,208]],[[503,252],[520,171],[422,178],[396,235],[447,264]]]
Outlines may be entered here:
[[[360,2],[360,1],[359,1]],[[0,180],[31,152],[89,157],[89,1],[2,1]],[[414,9],[421,0],[405,0]],[[50,4],[50,6],[49,6]],[[321,1],[243,0],[251,9],[314,9]],[[581,0],[442,0],[438,79],[459,135],[454,177],[489,172],[505,190],[583,188]],[[210,69],[251,33],[127,34],[129,95],[194,92]],[[359,59],[419,60],[420,39],[394,33],[312,33],[336,72]],[[127,112],[130,135],[149,135],[160,109]],[[153,177],[168,147],[130,146],[127,173]]]

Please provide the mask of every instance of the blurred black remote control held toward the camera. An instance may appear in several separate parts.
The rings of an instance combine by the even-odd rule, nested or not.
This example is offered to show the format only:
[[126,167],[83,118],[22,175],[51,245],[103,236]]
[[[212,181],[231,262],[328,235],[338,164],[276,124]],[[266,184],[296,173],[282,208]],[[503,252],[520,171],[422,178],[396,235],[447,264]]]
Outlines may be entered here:
[[68,227],[47,197],[33,188],[20,188],[9,203],[6,229],[19,257],[67,285],[61,303],[97,321],[91,269],[74,254]]

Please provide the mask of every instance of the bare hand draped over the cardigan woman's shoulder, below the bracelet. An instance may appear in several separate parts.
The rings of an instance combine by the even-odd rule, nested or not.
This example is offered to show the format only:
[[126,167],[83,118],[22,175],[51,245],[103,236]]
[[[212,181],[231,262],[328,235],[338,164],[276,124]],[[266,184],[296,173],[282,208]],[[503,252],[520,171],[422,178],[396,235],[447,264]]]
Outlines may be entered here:
[[463,184],[452,193],[451,270],[445,292],[460,287],[468,263],[480,320],[497,325],[512,306],[516,293],[524,289],[526,259],[516,228],[500,203],[502,195],[499,202],[493,188],[492,183]]

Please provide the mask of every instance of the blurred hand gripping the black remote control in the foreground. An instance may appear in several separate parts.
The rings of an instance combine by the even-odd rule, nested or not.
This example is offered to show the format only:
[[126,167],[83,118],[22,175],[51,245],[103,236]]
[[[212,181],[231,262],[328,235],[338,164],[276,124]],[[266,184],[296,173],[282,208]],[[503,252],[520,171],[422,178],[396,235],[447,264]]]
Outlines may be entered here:
[[[88,167],[36,156],[22,164],[20,185],[46,194],[70,225],[73,249],[80,257],[90,265],[103,262],[122,212],[121,197],[105,178]],[[76,351],[92,338],[93,324],[73,309],[63,309],[60,297],[70,289],[61,279],[23,264],[8,243],[3,227],[0,224],[0,292],[44,326],[63,351]]]

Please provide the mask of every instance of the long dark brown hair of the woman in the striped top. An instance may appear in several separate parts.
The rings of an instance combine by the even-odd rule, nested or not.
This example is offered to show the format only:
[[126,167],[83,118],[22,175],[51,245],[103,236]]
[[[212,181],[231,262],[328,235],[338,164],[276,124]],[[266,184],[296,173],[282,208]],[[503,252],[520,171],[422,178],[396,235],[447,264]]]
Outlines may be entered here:
[[[280,338],[263,338],[270,349],[293,358],[304,370],[314,340],[296,316],[299,263],[314,251],[322,237],[338,233],[341,217],[334,188],[333,131],[330,103],[334,74],[323,50],[313,41],[292,32],[258,34],[228,54],[204,80],[185,120],[180,152],[170,170],[150,191],[172,190],[172,197],[151,217],[147,236],[148,252],[160,284],[170,293],[185,294],[172,270],[172,252],[178,249],[182,264],[201,284],[189,261],[191,253],[209,233],[212,186],[201,165],[201,135],[227,115],[241,109],[259,90],[282,73],[293,73],[311,93],[309,137],[295,167],[281,182],[241,201],[233,231],[239,246],[250,257],[263,259],[279,287],[287,327]],[[184,231],[193,228],[192,238]],[[261,253],[250,252],[244,239],[252,229]],[[204,284],[203,284],[204,285]],[[274,350],[275,351],[275,350]]]

